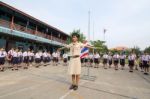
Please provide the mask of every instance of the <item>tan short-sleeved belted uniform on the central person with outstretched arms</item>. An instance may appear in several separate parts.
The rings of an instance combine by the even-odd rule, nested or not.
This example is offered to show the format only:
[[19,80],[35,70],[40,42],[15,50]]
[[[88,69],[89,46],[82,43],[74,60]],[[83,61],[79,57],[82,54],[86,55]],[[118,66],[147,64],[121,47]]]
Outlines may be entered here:
[[[74,55],[80,56],[81,48],[84,46],[85,46],[84,44],[77,42],[77,43],[71,43],[71,44],[67,45],[66,47],[70,49],[71,56],[74,56]],[[80,57],[70,59],[69,66],[68,66],[68,74],[70,74],[70,75],[81,74]]]

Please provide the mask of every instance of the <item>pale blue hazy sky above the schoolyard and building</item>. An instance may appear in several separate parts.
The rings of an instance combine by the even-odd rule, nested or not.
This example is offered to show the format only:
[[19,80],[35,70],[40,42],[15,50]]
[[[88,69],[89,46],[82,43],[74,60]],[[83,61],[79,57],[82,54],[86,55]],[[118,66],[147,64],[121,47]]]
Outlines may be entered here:
[[[80,29],[108,48],[150,46],[150,0],[0,0],[67,34]],[[103,29],[106,29],[105,37]]]

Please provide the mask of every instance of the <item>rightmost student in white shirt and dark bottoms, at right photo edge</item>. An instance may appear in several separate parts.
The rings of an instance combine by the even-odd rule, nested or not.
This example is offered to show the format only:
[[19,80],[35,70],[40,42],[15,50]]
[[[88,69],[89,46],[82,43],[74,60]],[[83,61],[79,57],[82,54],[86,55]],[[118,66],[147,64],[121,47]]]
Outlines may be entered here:
[[148,75],[149,72],[149,62],[150,62],[150,55],[147,52],[143,55],[143,67],[144,67],[144,74]]

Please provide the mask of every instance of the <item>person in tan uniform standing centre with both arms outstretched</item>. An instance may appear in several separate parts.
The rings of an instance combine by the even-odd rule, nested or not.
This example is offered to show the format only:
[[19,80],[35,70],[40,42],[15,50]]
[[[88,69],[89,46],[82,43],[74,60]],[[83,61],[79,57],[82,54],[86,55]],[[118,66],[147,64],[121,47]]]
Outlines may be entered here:
[[72,43],[59,49],[59,50],[64,49],[64,48],[70,49],[71,59],[69,62],[69,67],[68,67],[68,73],[72,75],[72,85],[69,88],[70,90],[78,89],[78,83],[79,83],[80,74],[81,74],[81,61],[80,61],[81,48],[83,47],[94,48],[94,47],[91,47],[89,45],[85,45],[79,42],[78,41],[79,38],[80,38],[79,34],[73,33]]

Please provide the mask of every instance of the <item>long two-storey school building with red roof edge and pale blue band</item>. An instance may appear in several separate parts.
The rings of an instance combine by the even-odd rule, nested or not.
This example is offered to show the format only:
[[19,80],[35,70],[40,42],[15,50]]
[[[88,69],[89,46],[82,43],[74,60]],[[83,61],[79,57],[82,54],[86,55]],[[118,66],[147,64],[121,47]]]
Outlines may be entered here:
[[54,51],[70,36],[0,1],[0,47]]

